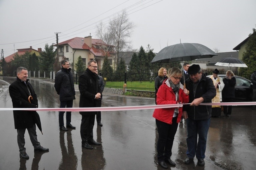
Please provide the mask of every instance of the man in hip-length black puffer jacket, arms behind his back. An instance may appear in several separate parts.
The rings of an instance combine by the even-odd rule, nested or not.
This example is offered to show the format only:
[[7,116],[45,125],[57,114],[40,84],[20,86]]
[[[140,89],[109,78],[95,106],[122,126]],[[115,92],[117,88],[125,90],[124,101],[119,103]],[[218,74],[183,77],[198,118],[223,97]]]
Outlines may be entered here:
[[[75,99],[74,81],[69,68],[70,64],[68,60],[61,61],[62,68],[56,73],[55,76],[55,90],[59,95],[60,108],[72,108],[73,100]],[[75,129],[75,126],[71,125],[71,111],[66,112],[66,127],[64,126],[65,111],[59,111],[59,129],[67,131],[67,128]]]

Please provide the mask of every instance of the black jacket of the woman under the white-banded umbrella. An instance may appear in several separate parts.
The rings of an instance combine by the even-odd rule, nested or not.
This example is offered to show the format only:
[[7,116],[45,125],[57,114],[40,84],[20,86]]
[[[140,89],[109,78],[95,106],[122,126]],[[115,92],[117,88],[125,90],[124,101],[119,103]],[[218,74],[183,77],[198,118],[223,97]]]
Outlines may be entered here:
[[222,98],[235,98],[235,86],[236,78],[232,77],[230,80],[226,77],[223,78],[223,83],[225,84],[222,93]]

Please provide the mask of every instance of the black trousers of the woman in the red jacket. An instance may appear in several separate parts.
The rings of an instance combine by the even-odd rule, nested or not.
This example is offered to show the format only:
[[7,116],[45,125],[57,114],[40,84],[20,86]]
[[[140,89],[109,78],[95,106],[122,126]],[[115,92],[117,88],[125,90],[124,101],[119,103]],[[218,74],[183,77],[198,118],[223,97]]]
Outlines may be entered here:
[[158,141],[157,141],[157,159],[164,161],[172,156],[172,144],[175,133],[178,128],[177,117],[172,118],[172,124],[168,124],[156,119]]

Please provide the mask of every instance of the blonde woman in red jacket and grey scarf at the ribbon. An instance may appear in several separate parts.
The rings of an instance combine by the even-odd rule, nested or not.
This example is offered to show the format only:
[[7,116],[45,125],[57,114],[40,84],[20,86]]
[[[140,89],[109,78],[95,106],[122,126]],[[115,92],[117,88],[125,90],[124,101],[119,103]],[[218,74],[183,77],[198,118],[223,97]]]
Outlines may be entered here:
[[[157,105],[188,103],[188,91],[180,83],[182,71],[174,67],[169,70],[168,77],[158,89]],[[175,162],[170,157],[172,156],[172,144],[181,115],[182,107],[155,109],[153,113],[159,136],[157,141],[157,159],[158,164],[163,168],[168,168],[165,162],[175,166]]]

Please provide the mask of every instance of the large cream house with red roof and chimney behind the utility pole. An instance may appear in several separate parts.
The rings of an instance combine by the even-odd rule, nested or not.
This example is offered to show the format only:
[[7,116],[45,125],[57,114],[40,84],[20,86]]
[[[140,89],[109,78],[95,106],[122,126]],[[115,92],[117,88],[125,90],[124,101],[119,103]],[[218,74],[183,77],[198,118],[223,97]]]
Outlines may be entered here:
[[116,57],[114,46],[106,44],[100,39],[92,39],[92,36],[75,37],[58,43],[58,46],[59,59],[62,60],[66,57],[69,63],[72,63],[72,69],[74,70],[76,70],[74,64],[79,56],[82,57],[86,65],[90,60],[95,60],[99,69],[102,69],[103,60],[105,56],[108,56],[111,66],[114,67]]

